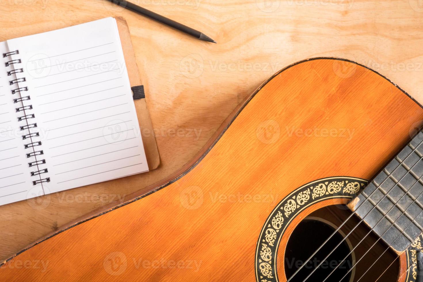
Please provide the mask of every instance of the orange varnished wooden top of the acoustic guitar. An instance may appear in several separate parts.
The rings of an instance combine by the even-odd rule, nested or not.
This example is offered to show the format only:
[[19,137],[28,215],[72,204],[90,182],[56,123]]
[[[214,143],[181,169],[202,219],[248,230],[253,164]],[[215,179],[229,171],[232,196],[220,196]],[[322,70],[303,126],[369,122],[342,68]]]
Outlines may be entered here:
[[[422,118],[418,104],[362,66],[296,64],[255,93],[178,181],[36,244],[5,263],[0,280],[254,281],[258,235],[283,197],[320,178],[370,179]],[[16,268],[25,261],[40,264]]]

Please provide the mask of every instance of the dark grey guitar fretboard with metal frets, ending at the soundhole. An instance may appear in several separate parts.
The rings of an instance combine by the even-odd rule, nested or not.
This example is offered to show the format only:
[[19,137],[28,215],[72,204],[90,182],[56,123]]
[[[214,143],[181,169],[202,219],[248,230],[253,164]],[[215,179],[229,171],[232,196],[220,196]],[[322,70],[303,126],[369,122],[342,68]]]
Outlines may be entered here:
[[400,253],[423,230],[423,133],[420,131],[349,204]]

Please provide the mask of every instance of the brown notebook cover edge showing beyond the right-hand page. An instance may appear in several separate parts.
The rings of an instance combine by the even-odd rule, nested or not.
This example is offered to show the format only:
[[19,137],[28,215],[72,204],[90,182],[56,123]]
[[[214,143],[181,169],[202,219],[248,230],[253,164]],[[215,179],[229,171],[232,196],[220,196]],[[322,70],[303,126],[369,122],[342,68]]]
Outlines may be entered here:
[[[128,69],[129,82],[131,87],[143,85],[138,72],[135,54],[132,48],[131,36],[129,34],[128,24],[122,17],[115,17],[118,24],[119,37],[121,38],[122,49],[126,68]],[[148,94],[148,93],[147,93]],[[153,134],[153,125],[150,119],[150,113],[147,109],[146,99],[134,100],[135,109],[137,110],[138,123],[140,124],[141,136],[143,138],[144,150],[146,152],[148,169],[154,170],[160,164],[159,151],[157,149],[156,138]]]

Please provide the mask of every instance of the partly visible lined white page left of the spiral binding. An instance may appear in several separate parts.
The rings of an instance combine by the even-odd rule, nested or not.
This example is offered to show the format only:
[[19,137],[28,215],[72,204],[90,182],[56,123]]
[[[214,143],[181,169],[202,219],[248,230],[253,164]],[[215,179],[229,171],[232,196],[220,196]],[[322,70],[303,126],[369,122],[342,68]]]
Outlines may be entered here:
[[22,135],[27,131],[21,131],[19,126],[24,123],[18,122],[17,107],[22,107],[22,103],[14,103],[14,99],[19,94],[12,94],[14,89],[9,81],[14,75],[7,72],[13,69],[12,66],[5,66],[10,57],[3,57],[3,53],[8,52],[6,42],[0,42],[0,205],[29,199],[43,195],[41,185],[33,185],[32,181],[39,179],[31,176],[28,163],[35,159],[27,158],[26,153],[32,150],[25,149],[27,143],[22,139]]

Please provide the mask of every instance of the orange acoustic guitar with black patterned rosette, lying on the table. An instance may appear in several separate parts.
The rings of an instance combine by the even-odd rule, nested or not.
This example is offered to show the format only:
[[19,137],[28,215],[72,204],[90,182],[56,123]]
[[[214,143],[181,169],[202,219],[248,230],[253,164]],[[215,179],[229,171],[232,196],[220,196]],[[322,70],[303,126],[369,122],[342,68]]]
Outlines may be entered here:
[[0,280],[418,281],[422,120],[376,71],[295,63],[181,171],[28,246]]

